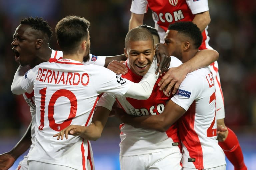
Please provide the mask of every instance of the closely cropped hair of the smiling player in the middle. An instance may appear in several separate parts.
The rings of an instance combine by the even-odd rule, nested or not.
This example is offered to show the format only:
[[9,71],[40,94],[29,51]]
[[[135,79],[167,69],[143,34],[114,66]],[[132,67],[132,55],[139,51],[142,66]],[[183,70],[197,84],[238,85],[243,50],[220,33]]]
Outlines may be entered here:
[[150,31],[146,28],[136,27],[131,29],[125,37],[125,48],[128,46],[129,41],[152,41],[152,45],[154,46],[154,39]]

